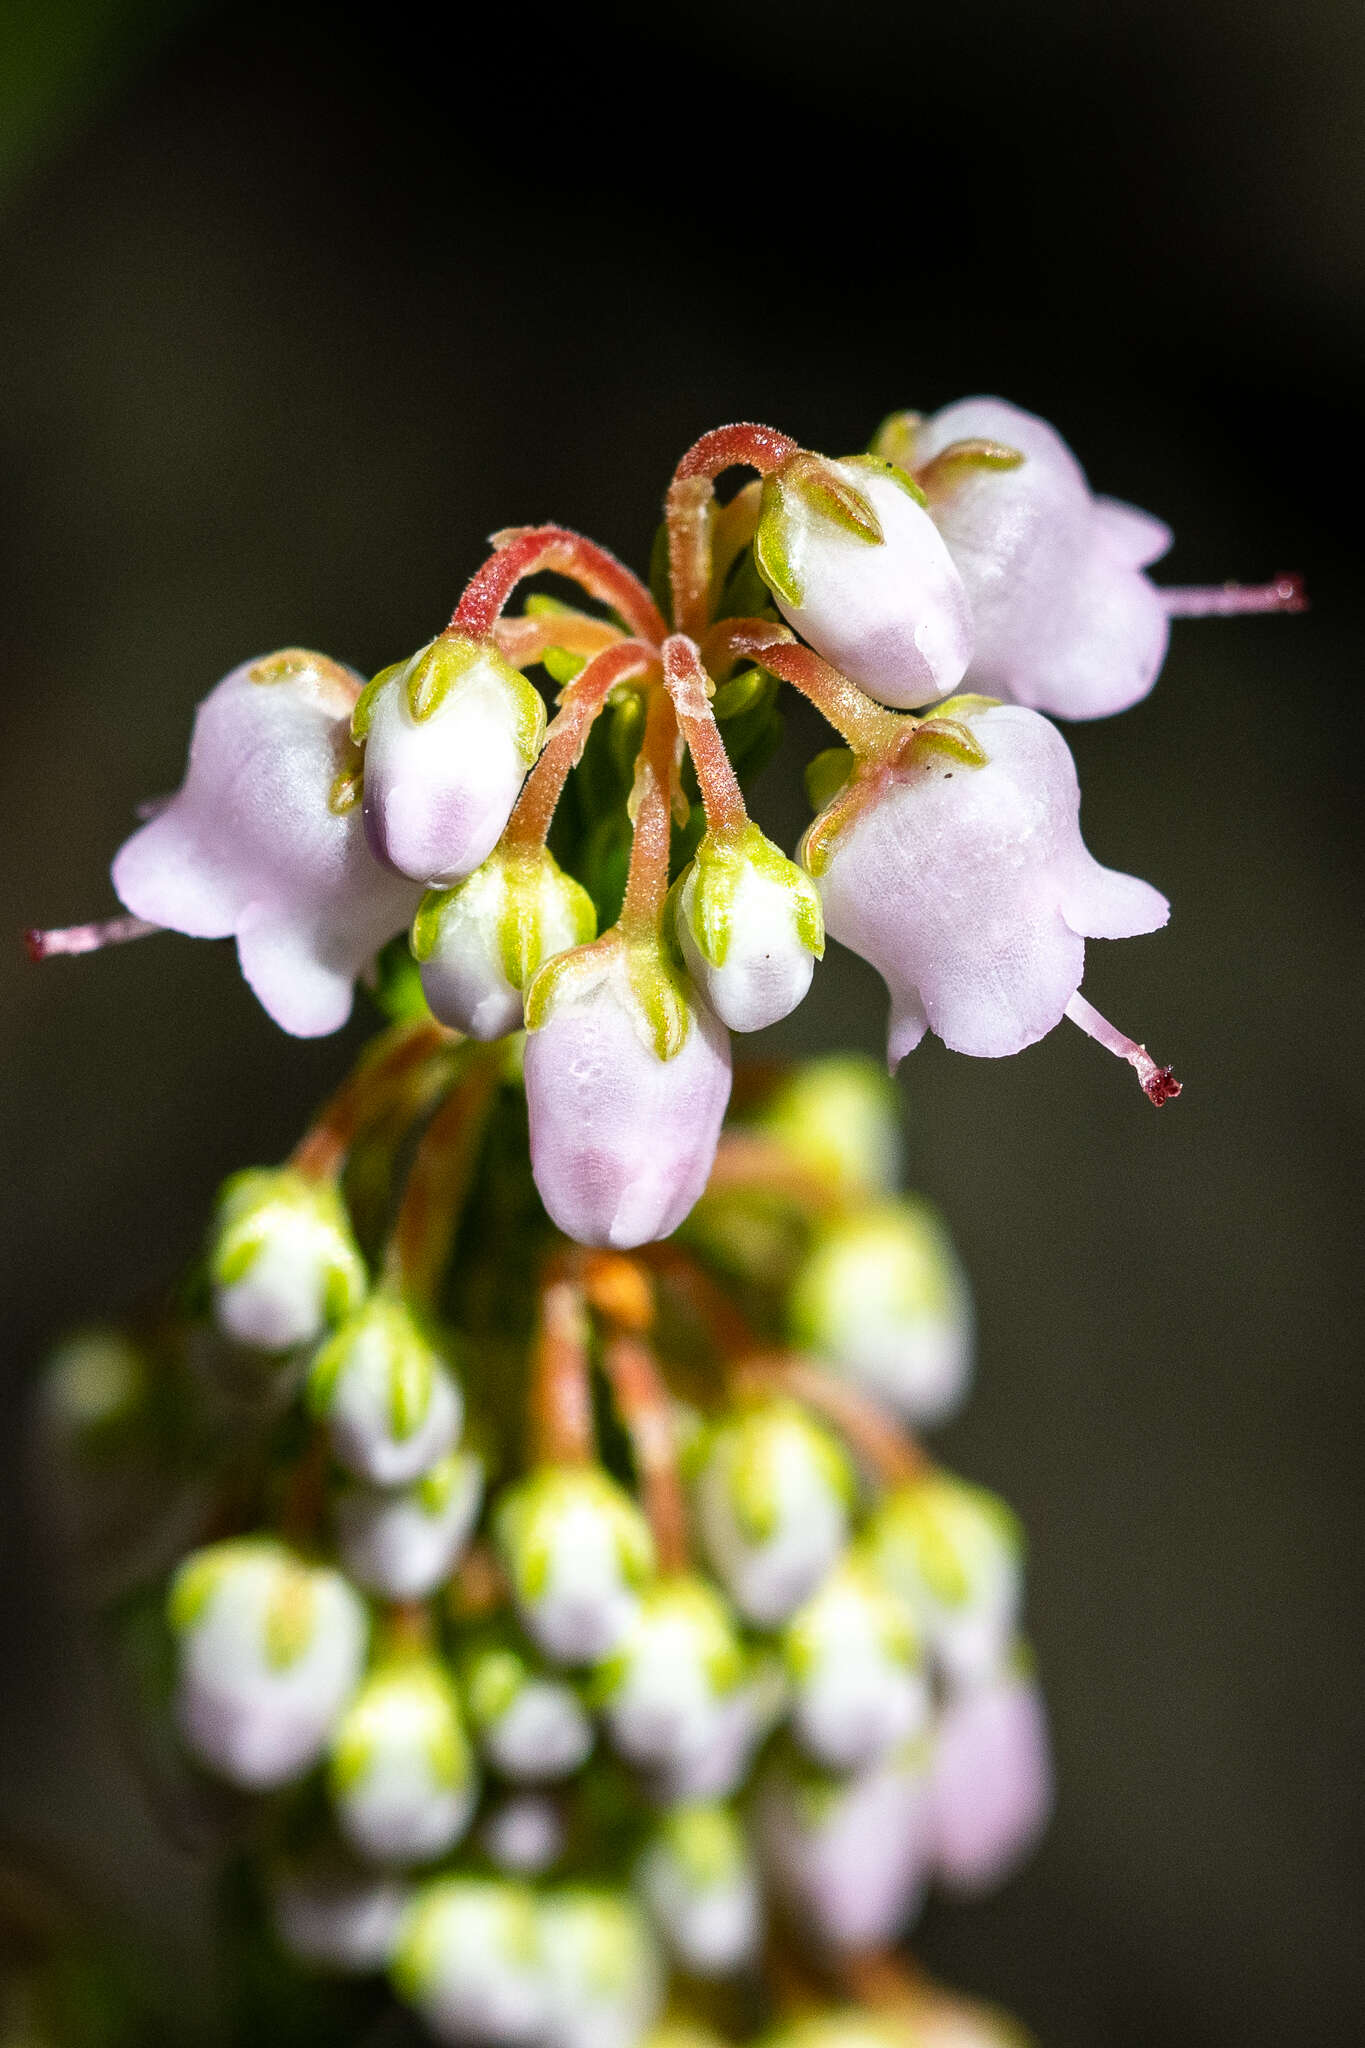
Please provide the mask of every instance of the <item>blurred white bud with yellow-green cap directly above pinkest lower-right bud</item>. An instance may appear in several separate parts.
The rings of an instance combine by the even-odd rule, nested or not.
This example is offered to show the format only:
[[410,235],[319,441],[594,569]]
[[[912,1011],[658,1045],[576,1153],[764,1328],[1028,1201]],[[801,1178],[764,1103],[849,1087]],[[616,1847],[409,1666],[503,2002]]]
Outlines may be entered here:
[[866,1542],[952,1686],[999,1671],[1023,1604],[1023,1540],[1005,1501],[931,1470],[878,1503]]

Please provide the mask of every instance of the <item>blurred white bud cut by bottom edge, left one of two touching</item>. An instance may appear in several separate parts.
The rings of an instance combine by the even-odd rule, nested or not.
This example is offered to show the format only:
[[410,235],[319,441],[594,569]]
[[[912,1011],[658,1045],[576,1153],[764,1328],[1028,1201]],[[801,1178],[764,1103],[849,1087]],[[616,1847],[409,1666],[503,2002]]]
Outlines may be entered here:
[[544,2040],[546,1991],[532,1894],[505,1880],[438,1878],[403,1915],[393,1982],[436,2040]]

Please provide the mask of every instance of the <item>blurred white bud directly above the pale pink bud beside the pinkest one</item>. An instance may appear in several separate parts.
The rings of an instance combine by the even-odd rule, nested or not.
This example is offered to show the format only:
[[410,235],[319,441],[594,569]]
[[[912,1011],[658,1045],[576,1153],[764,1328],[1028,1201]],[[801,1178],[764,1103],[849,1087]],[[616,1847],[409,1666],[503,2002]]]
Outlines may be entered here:
[[864,1769],[929,1720],[915,1624],[862,1556],[845,1556],[782,1636],[792,1731],[827,1769]]

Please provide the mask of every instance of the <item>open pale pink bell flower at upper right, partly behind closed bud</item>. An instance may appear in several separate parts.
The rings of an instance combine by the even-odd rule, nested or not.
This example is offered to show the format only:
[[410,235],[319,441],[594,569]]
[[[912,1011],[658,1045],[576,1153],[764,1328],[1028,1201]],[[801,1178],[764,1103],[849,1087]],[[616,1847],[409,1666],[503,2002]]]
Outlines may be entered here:
[[[997,442],[1017,467],[954,461],[958,442]],[[1056,428],[999,397],[935,412],[915,432],[929,510],[976,625],[968,688],[1058,719],[1126,711],[1156,682],[1169,623],[1144,569],[1171,547],[1160,520],[1091,496]]]

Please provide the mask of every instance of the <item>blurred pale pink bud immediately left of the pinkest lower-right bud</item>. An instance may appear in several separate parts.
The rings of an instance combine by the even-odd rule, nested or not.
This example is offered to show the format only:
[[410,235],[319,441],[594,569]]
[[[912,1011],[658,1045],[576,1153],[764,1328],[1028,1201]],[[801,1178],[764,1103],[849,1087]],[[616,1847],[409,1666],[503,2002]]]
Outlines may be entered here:
[[919,1749],[855,1778],[776,1761],[755,1825],[769,1884],[831,1948],[882,1948],[917,1919],[931,1853]]

